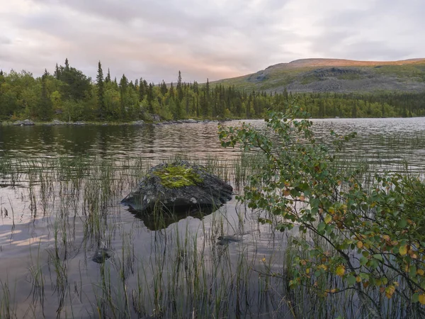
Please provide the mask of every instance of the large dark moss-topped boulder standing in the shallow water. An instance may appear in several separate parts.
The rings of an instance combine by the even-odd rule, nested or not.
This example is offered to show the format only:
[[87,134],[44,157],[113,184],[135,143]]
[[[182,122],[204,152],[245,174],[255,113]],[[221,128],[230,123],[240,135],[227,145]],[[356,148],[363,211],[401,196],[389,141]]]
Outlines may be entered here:
[[140,213],[157,208],[171,212],[219,208],[232,198],[232,191],[232,186],[204,167],[179,161],[152,167],[121,203]]

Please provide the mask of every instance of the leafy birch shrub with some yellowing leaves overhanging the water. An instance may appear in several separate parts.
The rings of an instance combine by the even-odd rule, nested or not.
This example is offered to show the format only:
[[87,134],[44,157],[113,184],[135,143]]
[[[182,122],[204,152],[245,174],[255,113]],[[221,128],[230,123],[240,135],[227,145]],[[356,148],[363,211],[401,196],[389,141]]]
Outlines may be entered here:
[[[359,172],[343,171],[336,162],[355,133],[331,131],[331,143],[323,145],[306,111],[286,110],[268,114],[266,133],[244,124],[220,127],[219,134],[224,147],[239,144],[266,156],[239,199],[267,213],[261,222],[275,216],[279,230],[305,234],[293,242],[300,254],[288,274],[290,286],[307,286],[322,297],[354,289],[376,317],[381,309],[373,296],[397,296],[415,315],[424,315],[415,306],[425,304],[424,182],[383,174],[364,184]],[[317,284],[329,275],[338,280]]]

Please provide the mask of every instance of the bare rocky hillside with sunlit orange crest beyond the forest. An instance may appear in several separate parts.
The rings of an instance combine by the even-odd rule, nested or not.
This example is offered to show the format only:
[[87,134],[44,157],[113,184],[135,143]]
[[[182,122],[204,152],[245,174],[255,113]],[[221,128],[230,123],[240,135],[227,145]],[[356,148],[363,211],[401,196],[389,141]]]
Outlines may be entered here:
[[425,58],[402,61],[303,59],[212,83],[292,92],[425,91]]

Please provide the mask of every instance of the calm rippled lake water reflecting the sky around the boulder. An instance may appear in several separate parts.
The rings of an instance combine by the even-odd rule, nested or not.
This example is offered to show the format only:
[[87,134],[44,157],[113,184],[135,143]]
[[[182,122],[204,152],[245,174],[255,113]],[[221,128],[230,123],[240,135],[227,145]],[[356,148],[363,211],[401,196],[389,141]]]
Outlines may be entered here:
[[[356,131],[346,159],[424,172],[425,118],[324,119],[313,127],[324,141],[329,129]],[[176,155],[226,163],[240,152],[220,147],[217,123],[0,126],[0,159],[9,165],[0,166],[0,318],[6,304],[16,318],[290,318],[280,283],[265,289],[261,279],[265,269],[281,271],[288,234],[259,225],[257,213],[233,199],[157,230],[120,205],[141,177],[132,169],[140,159],[149,167]],[[227,177],[232,183],[232,172]],[[217,245],[219,235],[237,240]],[[113,256],[93,262],[103,248]],[[239,268],[246,278],[227,276]],[[202,282],[190,280],[199,274]]]

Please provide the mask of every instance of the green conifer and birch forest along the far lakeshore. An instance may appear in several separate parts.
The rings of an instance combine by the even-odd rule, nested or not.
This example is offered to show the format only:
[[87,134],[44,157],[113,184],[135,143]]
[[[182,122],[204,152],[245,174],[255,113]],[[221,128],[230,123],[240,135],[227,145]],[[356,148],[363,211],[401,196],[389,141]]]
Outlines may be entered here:
[[183,82],[148,83],[128,79],[125,74],[111,79],[98,62],[96,79],[69,65],[56,65],[41,77],[26,71],[0,71],[0,121],[24,118],[33,121],[162,121],[184,118],[263,118],[267,111],[284,111],[288,101],[305,108],[313,118],[365,118],[425,116],[425,92],[374,94],[303,93],[246,91],[234,86]]

